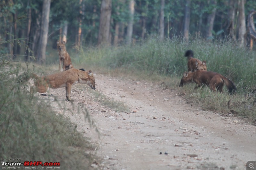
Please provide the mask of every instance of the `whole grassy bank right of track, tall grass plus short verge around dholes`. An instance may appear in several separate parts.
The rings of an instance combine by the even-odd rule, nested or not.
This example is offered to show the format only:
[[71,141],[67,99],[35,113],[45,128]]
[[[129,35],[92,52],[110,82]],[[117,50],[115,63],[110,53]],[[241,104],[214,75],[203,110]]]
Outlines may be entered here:
[[[225,88],[223,94],[204,89],[195,91],[194,84],[189,88],[177,88],[182,74],[187,71],[188,61],[184,54],[188,49],[194,51],[195,58],[206,60],[208,71],[218,72],[233,81],[237,93],[229,96]],[[144,76],[156,82],[162,80],[167,88],[176,88],[181,95],[186,94],[186,98],[200,103],[204,109],[229,112],[227,103],[231,99],[238,116],[255,121],[256,95],[252,93],[256,89],[255,51],[237,47],[228,40],[208,42],[193,39],[186,43],[179,38],[164,41],[150,38],[132,46],[84,48],[76,64],[105,72],[125,72],[139,75],[140,78]],[[191,96],[196,93],[200,95]]]

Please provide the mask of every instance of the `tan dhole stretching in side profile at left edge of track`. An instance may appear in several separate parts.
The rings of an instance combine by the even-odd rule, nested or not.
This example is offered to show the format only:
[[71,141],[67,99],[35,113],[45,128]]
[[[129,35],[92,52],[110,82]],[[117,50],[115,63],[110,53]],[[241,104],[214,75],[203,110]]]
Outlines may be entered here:
[[31,76],[34,79],[34,86],[30,87],[30,93],[37,91],[39,93],[46,93],[49,88],[57,89],[66,87],[66,97],[68,101],[70,99],[71,86],[76,83],[82,83],[89,85],[92,89],[95,89],[95,79],[92,74],[92,70],[89,72],[71,68],[69,70],[39,77],[36,74]]

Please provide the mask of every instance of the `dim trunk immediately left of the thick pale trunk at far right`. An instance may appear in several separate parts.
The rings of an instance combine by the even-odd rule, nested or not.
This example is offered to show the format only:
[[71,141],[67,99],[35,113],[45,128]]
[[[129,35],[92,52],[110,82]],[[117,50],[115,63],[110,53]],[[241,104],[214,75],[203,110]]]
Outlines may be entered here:
[[229,0],[228,2],[228,6],[230,7],[230,9],[228,11],[227,31],[228,31],[228,36],[233,40],[236,40],[236,36],[234,35],[235,4],[236,4],[236,1],[234,0]]

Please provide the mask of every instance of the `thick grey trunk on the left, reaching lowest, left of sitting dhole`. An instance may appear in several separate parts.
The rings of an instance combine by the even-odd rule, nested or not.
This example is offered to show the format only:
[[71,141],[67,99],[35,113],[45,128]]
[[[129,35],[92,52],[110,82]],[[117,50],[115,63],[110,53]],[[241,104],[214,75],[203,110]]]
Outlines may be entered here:
[[45,63],[45,59],[46,59],[45,51],[46,51],[48,28],[49,28],[50,6],[51,6],[51,0],[44,0],[42,20],[41,20],[40,39],[38,42],[37,56],[36,56],[37,62],[40,64]]

